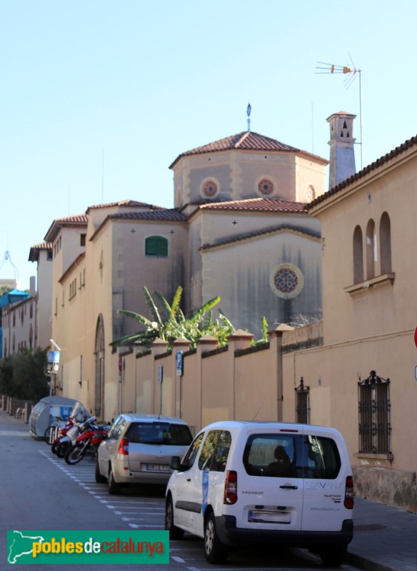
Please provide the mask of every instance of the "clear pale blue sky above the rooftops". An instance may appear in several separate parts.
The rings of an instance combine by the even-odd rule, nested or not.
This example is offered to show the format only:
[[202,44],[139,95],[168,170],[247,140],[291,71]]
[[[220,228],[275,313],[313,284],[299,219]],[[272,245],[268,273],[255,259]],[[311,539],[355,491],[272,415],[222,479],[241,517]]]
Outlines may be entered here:
[[[183,151],[251,130],[328,158],[356,113],[363,166],[417,132],[411,0],[1,0],[0,261],[29,287],[55,218],[102,202],[173,206]],[[356,74],[358,76],[358,74]],[[356,146],[356,167],[361,166]],[[0,278],[14,267],[1,262]]]

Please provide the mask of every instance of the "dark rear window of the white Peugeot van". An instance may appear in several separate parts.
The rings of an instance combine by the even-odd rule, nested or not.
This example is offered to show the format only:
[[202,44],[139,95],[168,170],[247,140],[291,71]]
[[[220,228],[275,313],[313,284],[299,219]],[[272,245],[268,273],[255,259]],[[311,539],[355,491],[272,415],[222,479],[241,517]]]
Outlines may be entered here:
[[248,438],[243,465],[252,476],[333,480],[341,459],[332,438],[266,433]]

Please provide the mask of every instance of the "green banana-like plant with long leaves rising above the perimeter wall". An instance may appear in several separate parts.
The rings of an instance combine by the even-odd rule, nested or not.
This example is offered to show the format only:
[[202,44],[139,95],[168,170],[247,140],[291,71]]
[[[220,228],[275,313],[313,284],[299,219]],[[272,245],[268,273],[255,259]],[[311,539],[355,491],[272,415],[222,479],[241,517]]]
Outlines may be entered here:
[[159,292],[154,293],[154,297],[161,306],[161,310],[156,305],[154,298],[149,293],[148,288],[144,286],[144,297],[146,305],[148,305],[151,319],[146,318],[144,315],[121,309],[118,311],[119,315],[129,317],[136,320],[145,329],[124,335],[120,339],[114,340],[110,345],[131,345],[132,343],[141,343],[142,345],[149,346],[156,339],[163,339],[172,343],[175,339],[184,337],[191,341],[191,347],[196,346],[196,341],[202,335],[216,335],[219,345],[226,345],[228,335],[231,335],[236,328],[231,321],[226,318],[221,310],[218,310],[218,318],[213,319],[212,309],[220,302],[220,297],[217,296],[201,305],[201,308],[191,315],[186,317],[180,308],[181,295],[183,288],[181,285],[176,289],[174,298],[171,305]]

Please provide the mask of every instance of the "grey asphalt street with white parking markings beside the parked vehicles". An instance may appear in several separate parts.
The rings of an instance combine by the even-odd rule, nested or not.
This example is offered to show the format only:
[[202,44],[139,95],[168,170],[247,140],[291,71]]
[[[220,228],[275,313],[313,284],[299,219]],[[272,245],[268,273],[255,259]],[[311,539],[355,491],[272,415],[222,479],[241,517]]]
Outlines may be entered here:
[[[49,445],[29,435],[21,420],[0,410],[1,535],[0,570],[6,568],[7,530],[164,530],[164,487],[129,487],[111,496],[106,484],[96,484],[95,462],[84,458],[67,465]],[[21,567],[21,565],[16,565]],[[79,565],[87,568],[88,565]],[[131,570],[131,565],[103,565],[100,570]],[[276,552],[248,548],[231,552],[225,565],[206,562],[203,541],[191,535],[170,542],[169,567],[189,571],[299,570],[323,568],[301,550]],[[152,565],[152,569],[166,565]],[[357,567],[343,565],[343,570]],[[31,565],[31,570],[44,565]],[[49,565],[49,571],[68,565]]]

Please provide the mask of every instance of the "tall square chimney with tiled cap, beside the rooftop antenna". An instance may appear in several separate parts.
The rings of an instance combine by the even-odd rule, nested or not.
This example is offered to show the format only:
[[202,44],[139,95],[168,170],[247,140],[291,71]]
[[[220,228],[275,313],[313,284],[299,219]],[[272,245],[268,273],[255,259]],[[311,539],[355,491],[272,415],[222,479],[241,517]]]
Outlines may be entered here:
[[328,188],[333,188],[356,173],[353,144],[353,119],[356,115],[339,111],[328,117],[330,123],[330,172]]

